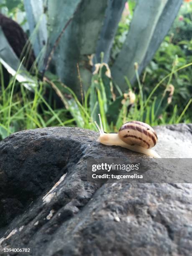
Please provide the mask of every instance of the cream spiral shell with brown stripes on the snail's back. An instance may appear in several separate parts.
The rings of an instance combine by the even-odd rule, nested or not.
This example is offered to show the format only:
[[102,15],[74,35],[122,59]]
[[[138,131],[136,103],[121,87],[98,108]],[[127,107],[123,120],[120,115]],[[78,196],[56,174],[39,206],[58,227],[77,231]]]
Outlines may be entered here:
[[124,123],[119,129],[118,135],[125,143],[139,145],[143,148],[152,148],[157,142],[157,135],[154,129],[140,121]]

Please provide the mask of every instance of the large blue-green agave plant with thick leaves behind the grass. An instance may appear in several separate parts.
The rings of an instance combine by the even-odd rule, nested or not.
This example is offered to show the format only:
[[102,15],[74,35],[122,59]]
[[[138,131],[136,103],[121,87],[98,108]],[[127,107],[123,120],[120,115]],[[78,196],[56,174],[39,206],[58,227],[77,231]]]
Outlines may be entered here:
[[[94,64],[108,63],[110,50],[126,0],[24,0],[31,43],[42,74],[51,71],[80,95],[79,73],[84,90],[90,87]],[[137,0],[133,19],[111,75],[122,91],[125,77],[135,79],[153,58],[176,17],[182,0]],[[17,70],[20,61],[0,29],[0,60]],[[9,53],[9,54],[7,54]]]

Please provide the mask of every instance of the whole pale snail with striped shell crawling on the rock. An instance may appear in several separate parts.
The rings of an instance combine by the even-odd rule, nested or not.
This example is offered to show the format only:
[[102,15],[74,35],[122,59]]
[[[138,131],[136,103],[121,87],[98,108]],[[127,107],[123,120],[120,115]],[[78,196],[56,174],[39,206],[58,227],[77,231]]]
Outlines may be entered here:
[[100,143],[107,146],[121,146],[129,150],[146,154],[155,158],[161,158],[153,149],[157,142],[157,135],[154,129],[140,121],[124,123],[118,133],[104,133],[102,120],[99,114],[100,127],[95,121],[100,132]]

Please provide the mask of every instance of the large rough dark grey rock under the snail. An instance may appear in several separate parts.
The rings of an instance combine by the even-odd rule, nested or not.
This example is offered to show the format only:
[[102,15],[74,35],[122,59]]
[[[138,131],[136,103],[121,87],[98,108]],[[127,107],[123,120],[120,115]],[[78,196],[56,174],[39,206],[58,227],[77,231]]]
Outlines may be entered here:
[[[155,129],[162,157],[192,157],[192,125]],[[93,131],[57,127],[14,133],[0,142],[0,250],[189,256],[192,184],[87,182],[90,157],[147,157],[97,138]]]

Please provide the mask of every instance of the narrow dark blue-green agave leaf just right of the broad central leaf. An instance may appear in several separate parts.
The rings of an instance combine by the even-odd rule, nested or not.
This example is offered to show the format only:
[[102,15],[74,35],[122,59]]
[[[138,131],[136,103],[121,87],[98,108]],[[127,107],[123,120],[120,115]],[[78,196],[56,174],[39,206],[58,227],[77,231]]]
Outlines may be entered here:
[[103,62],[108,63],[113,39],[126,2],[127,0],[109,0],[108,8],[105,12],[106,18],[97,43],[95,63],[101,62],[101,52],[104,52]]

